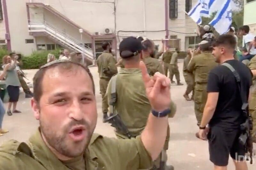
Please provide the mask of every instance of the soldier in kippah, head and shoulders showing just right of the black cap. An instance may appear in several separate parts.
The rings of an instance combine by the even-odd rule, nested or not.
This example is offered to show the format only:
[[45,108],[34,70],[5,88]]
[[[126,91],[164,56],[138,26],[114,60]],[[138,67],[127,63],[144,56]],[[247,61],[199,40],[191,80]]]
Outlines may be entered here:
[[158,61],[158,59],[154,58],[154,48],[155,44],[153,41],[146,39],[142,41],[142,56],[143,62],[146,64],[148,69],[148,74],[153,76],[156,72],[164,73],[163,66]]

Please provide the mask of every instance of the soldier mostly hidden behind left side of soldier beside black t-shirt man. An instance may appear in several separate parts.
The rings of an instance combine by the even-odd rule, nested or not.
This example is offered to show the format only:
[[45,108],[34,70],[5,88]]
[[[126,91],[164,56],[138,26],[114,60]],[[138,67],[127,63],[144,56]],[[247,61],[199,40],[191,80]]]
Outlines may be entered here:
[[[191,98],[193,97],[193,94],[192,94],[192,97],[189,98],[189,94],[192,92],[194,93],[194,75],[193,73],[189,72],[188,71],[188,63],[191,59],[191,54],[190,54],[190,49],[188,50],[188,55],[186,58],[184,58],[184,62],[183,62],[183,76],[184,76],[184,79],[187,83],[187,89],[186,89],[186,92],[185,94],[183,95],[183,97],[190,101]],[[194,97],[193,97],[194,98]]]

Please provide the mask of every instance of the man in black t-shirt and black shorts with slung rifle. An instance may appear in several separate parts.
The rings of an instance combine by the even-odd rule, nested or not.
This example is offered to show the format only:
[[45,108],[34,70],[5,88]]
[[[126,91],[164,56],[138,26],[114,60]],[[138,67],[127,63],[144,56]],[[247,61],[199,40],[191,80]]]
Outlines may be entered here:
[[[241,79],[241,90],[249,97],[252,73],[233,57],[236,40],[232,35],[221,35],[213,44],[212,54],[219,64],[228,63],[234,67]],[[245,151],[239,144],[240,125],[245,118],[242,100],[234,74],[228,67],[220,65],[211,70],[207,83],[208,98],[204,107],[199,136],[209,142],[210,160],[215,169],[226,169],[230,156],[237,161],[236,169],[247,170]],[[209,132],[206,125],[209,124]],[[207,134],[208,133],[208,134]]]

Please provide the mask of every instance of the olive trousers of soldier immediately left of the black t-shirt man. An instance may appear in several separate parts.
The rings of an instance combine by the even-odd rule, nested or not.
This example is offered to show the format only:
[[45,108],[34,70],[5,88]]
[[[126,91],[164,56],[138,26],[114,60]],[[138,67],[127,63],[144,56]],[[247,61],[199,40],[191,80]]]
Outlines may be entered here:
[[194,89],[195,114],[197,125],[202,121],[204,106],[207,100],[207,83],[196,83]]

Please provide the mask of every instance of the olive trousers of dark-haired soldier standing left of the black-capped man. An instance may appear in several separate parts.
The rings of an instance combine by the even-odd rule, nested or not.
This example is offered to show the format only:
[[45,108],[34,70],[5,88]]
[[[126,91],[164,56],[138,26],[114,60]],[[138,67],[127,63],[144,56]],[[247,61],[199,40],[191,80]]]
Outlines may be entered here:
[[102,96],[102,112],[107,113],[108,112],[108,99],[105,97],[107,88],[108,88],[108,82],[109,78],[100,78],[100,94]]

